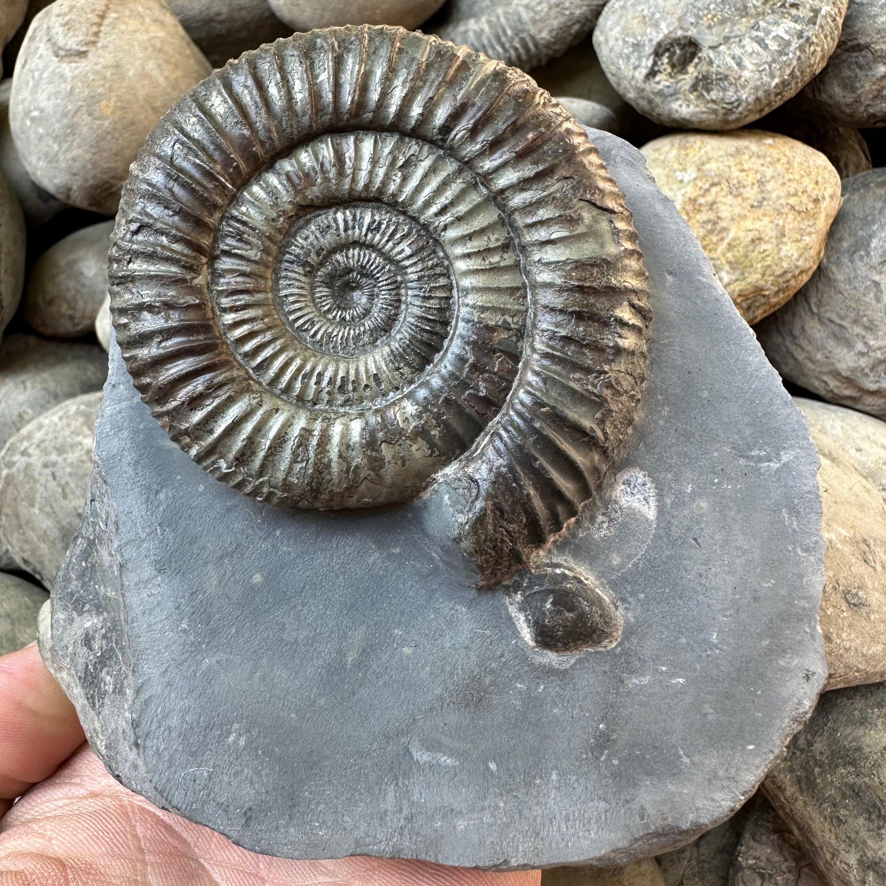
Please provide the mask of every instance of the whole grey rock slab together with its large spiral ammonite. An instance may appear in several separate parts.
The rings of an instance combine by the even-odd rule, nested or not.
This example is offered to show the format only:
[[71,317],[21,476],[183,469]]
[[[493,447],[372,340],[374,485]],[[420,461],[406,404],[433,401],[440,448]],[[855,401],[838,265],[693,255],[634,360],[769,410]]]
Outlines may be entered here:
[[140,152],[110,278],[41,642],[128,787],[293,858],[614,863],[803,721],[802,417],[639,152],[525,74],[247,52]]

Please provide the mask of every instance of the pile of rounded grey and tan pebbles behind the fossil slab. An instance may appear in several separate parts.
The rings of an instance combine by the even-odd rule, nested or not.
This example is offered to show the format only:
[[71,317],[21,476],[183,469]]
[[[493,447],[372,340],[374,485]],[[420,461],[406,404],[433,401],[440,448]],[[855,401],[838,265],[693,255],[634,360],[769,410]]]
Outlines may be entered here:
[[360,22],[523,66],[580,122],[641,147],[820,454],[829,672],[812,719],[742,810],[694,843],[542,882],[886,884],[882,0],[3,4],[0,654],[34,640],[82,517],[111,337],[108,244],[138,148],[228,58],[293,28]]

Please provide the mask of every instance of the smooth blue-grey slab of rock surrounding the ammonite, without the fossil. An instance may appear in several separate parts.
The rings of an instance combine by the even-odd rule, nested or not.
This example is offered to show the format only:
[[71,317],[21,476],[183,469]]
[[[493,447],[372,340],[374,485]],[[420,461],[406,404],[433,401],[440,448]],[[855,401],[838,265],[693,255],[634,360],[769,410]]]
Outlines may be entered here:
[[449,540],[445,482],[336,514],[216,482],[112,345],[42,645],[129,787],[279,856],[624,865],[726,818],[804,722],[825,668],[817,456],[641,154],[591,136],[649,269],[649,380],[601,510],[542,565],[607,587],[621,641],[528,645],[518,601],[478,590]]

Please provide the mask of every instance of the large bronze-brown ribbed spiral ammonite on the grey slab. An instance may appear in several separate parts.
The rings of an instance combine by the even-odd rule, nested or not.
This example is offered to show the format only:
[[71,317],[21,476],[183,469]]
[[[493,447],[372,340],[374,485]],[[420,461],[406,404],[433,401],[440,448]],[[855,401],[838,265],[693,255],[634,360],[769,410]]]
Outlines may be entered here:
[[594,496],[640,397],[646,275],[599,154],[434,36],[330,28],[216,71],[139,153],[110,271],[137,390],[215,478],[346,509],[446,476],[490,582]]

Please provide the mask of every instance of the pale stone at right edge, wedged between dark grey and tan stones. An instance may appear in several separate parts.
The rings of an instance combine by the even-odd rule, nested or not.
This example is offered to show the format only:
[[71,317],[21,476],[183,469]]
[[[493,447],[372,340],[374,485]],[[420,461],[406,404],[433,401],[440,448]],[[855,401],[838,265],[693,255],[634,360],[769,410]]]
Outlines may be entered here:
[[867,478],[886,501],[886,422],[855,409],[795,397],[814,437],[830,440],[848,455],[852,465]]

